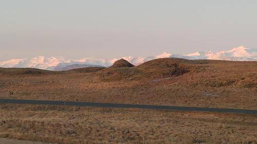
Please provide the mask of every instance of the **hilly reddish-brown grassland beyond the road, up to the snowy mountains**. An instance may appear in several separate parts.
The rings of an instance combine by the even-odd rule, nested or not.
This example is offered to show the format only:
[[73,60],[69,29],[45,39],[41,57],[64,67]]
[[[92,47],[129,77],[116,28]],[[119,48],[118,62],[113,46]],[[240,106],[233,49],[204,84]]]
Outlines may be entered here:
[[257,61],[160,58],[116,65],[61,72],[1,68],[0,98],[257,109]]

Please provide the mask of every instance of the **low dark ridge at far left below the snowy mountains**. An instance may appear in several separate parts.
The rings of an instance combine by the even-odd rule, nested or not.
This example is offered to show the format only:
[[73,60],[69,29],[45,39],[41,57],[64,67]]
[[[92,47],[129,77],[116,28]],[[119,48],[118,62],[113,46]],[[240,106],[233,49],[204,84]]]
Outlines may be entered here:
[[24,75],[24,74],[51,74],[58,73],[55,71],[33,69],[33,68],[0,68],[0,74],[7,75]]

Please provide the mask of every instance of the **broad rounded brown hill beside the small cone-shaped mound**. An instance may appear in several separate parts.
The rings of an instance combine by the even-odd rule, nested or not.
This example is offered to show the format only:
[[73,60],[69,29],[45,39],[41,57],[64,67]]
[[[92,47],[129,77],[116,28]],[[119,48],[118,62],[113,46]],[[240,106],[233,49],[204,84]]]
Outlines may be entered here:
[[179,58],[159,58],[136,67],[115,67],[114,64],[114,66],[100,71],[100,78],[104,81],[112,81],[180,76],[191,70],[191,66],[185,64],[185,61],[186,59]]

